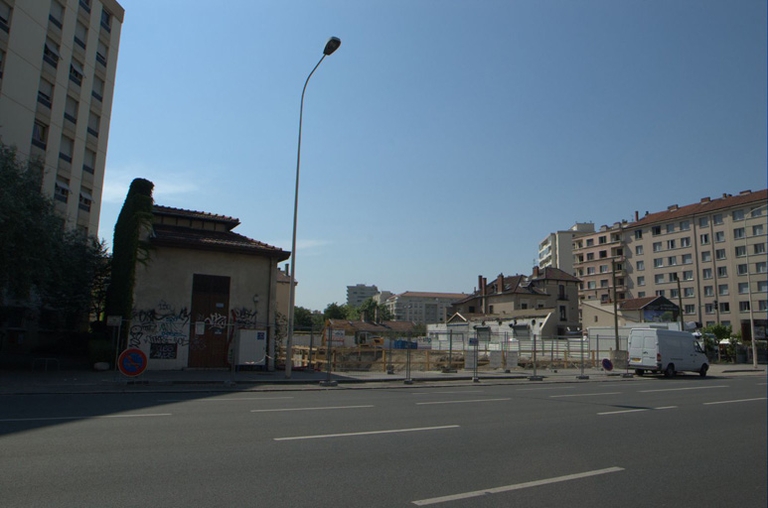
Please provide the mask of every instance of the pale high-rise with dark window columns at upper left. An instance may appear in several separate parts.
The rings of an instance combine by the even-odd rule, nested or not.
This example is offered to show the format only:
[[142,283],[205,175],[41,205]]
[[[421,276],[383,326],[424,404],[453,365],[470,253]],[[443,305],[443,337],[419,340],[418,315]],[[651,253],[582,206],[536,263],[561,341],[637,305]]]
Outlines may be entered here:
[[43,164],[65,227],[97,234],[124,9],[0,0],[0,141]]

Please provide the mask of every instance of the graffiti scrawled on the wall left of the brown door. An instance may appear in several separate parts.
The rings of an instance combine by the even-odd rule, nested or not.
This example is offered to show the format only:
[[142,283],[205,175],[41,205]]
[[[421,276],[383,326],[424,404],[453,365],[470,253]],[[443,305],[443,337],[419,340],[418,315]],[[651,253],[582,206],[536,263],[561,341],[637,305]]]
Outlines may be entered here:
[[161,300],[154,309],[135,309],[131,315],[129,347],[141,344],[189,344],[190,315],[186,307],[176,310]]

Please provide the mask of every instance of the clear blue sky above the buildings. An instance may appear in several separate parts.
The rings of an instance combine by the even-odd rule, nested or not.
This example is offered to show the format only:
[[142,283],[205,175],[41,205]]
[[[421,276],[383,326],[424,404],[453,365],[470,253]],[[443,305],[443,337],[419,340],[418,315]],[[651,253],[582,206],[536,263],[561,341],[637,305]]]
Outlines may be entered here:
[[290,250],[297,305],[470,292],[574,222],[766,187],[764,0],[120,0],[100,236],[128,185]]

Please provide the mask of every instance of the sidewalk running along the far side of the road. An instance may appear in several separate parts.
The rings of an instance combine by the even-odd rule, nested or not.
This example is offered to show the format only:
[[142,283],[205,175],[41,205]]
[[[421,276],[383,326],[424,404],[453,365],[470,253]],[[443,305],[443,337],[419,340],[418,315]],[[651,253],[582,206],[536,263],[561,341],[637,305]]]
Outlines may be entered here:
[[[631,381],[654,379],[658,376],[634,376],[630,371],[618,370],[606,372],[597,368],[585,368],[584,375],[589,379],[578,379],[580,369],[537,369],[542,378],[532,381],[530,369],[478,371],[478,383],[486,384],[531,384],[531,383],[574,383],[601,381]],[[631,374],[628,376],[627,374]],[[684,378],[698,378],[695,373],[680,374]],[[751,364],[715,364],[710,367],[708,378],[731,378],[736,376],[766,377],[766,366],[754,369]],[[86,394],[86,393],[144,393],[144,392],[236,392],[236,391],[277,391],[277,390],[326,390],[326,389],[372,389],[405,388],[408,386],[445,386],[473,384],[471,370],[458,370],[455,373],[439,371],[411,373],[412,383],[406,383],[405,372],[387,374],[386,372],[332,372],[330,380],[335,388],[322,386],[321,382],[329,379],[326,372],[293,370],[291,378],[285,377],[285,371],[239,371],[228,370],[181,370],[181,371],[146,371],[136,378],[128,378],[117,372],[96,371],[0,371],[1,395],[29,394]]]

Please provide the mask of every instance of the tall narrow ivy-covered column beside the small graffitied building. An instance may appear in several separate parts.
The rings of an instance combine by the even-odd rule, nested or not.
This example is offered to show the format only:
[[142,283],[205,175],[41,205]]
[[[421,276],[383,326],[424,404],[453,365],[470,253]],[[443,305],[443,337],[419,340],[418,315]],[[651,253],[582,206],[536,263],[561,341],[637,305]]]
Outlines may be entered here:
[[[149,260],[149,246],[141,240],[141,234],[152,226],[153,188],[154,184],[149,180],[133,180],[117,217],[112,240],[112,279],[107,288],[107,315],[129,317],[133,311],[136,264]],[[127,339],[128,329],[123,327],[120,344],[124,346]]]

